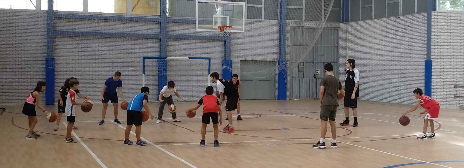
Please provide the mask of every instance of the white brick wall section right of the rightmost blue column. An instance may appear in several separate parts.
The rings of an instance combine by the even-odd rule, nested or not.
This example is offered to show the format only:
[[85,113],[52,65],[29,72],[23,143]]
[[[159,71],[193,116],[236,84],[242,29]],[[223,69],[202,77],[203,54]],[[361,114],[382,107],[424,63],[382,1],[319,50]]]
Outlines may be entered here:
[[458,108],[464,89],[464,12],[432,13],[432,97],[442,107]]

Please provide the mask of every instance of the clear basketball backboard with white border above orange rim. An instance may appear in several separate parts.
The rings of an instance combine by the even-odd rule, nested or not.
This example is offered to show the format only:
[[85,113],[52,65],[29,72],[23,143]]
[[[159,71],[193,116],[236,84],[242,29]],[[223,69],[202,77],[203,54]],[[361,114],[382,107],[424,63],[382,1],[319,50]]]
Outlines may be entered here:
[[230,32],[245,32],[245,2],[197,0],[197,31],[218,31],[232,26]]

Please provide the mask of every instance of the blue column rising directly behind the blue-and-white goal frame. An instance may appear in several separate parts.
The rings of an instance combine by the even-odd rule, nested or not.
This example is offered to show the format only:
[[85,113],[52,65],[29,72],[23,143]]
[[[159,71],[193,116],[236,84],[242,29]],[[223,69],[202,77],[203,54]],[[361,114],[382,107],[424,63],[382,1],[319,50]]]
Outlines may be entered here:
[[[160,57],[168,56],[168,15],[166,0],[160,1]],[[168,84],[168,60],[158,60],[158,93]],[[158,96],[156,96],[159,99]],[[158,100],[159,101],[159,100]]]

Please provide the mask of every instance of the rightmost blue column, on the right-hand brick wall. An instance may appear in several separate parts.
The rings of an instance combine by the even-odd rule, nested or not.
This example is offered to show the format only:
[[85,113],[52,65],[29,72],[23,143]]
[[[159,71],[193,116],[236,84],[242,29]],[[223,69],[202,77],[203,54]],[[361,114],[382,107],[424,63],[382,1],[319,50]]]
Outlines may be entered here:
[[424,95],[432,96],[432,11],[437,11],[437,1],[427,0],[427,58],[424,63]]

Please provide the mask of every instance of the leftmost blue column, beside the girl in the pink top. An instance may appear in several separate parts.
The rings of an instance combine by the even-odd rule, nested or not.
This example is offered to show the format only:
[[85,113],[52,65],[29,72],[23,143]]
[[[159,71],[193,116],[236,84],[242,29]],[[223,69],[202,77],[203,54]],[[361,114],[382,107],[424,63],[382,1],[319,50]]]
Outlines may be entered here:
[[55,58],[53,57],[53,0],[47,9],[47,57],[45,58],[45,104],[55,104]]

